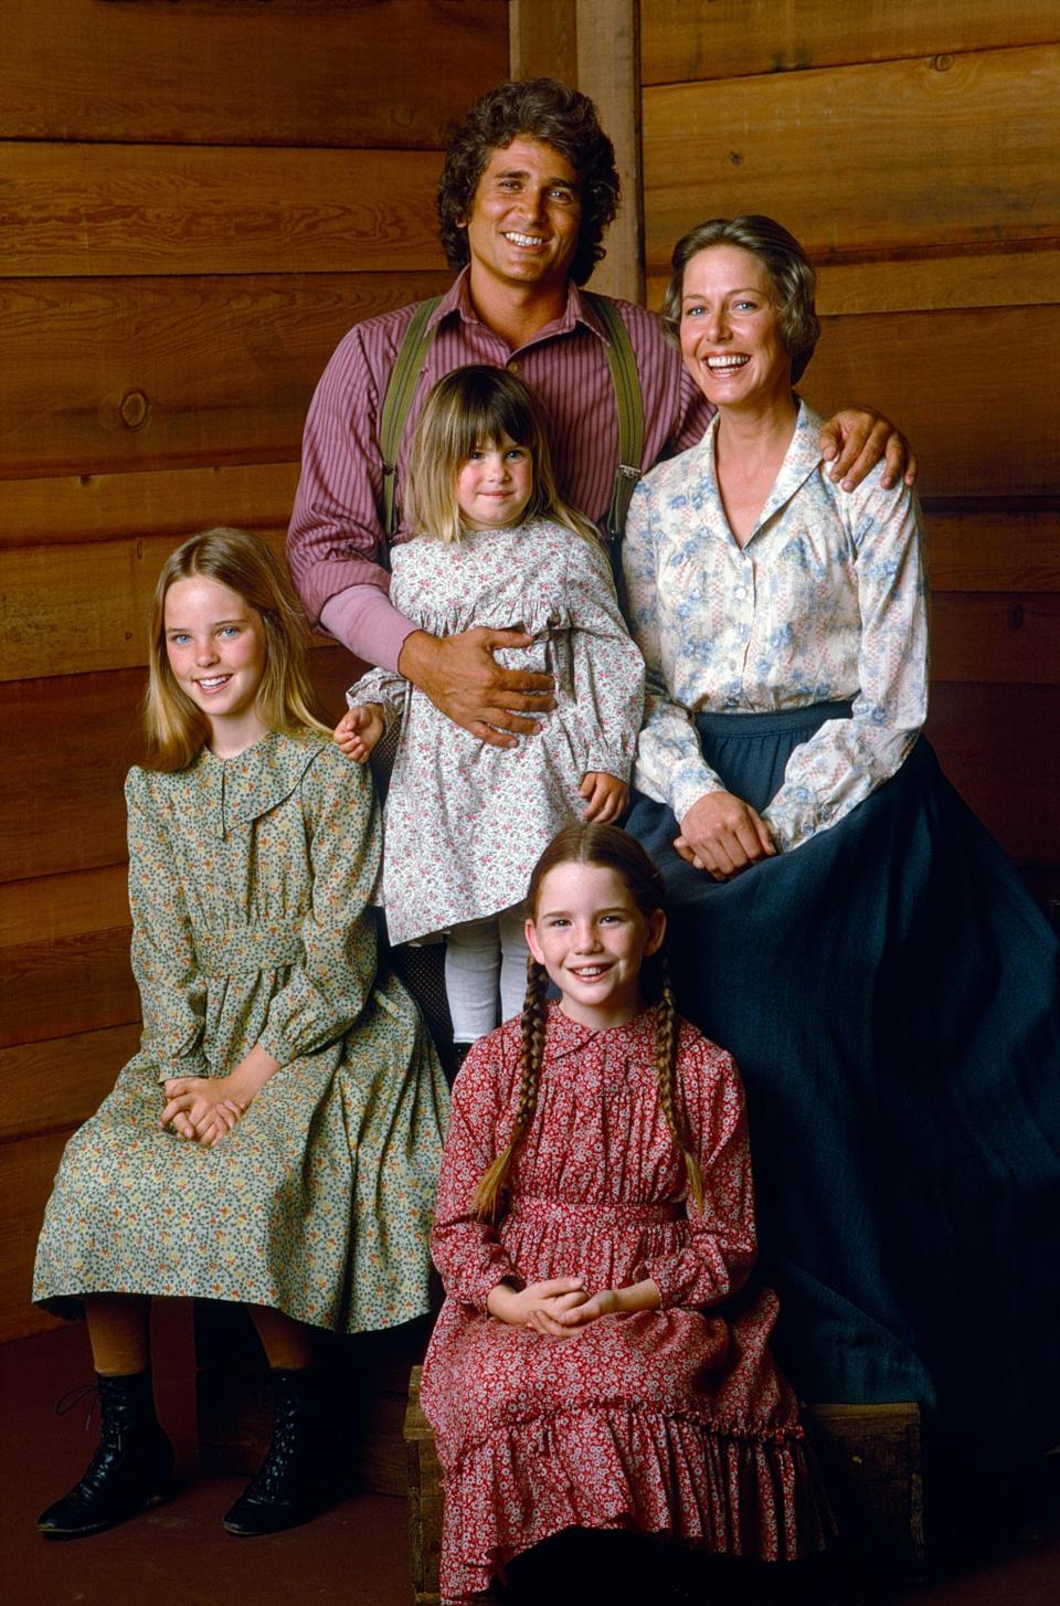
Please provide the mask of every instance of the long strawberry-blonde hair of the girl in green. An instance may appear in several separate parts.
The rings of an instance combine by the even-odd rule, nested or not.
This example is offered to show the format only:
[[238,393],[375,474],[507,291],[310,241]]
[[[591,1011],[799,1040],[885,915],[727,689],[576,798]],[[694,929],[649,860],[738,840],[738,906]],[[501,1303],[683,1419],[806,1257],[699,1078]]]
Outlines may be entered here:
[[165,597],[177,580],[204,575],[236,591],[262,622],[265,673],[259,708],[270,731],[324,731],[308,675],[308,628],[279,559],[249,530],[193,535],[162,565],[151,607],[148,692],[143,723],[149,769],[185,769],[206,745],[210,728],[177,683],[165,650]]

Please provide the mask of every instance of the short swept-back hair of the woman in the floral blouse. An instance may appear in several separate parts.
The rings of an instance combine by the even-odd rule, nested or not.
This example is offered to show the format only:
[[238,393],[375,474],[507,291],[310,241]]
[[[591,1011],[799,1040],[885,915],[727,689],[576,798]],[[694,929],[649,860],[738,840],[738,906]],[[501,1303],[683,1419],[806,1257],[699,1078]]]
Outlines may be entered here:
[[684,296],[684,270],[692,257],[710,246],[740,246],[758,257],[773,281],[777,296],[781,339],[792,358],[792,384],[806,373],[821,336],[821,323],[814,307],[816,275],[806,252],[793,234],[774,218],[748,214],[745,217],[713,217],[697,223],[673,247],[670,259],[673,278],[663,300],[663,323],[676,340],[681,328],[681,302]]

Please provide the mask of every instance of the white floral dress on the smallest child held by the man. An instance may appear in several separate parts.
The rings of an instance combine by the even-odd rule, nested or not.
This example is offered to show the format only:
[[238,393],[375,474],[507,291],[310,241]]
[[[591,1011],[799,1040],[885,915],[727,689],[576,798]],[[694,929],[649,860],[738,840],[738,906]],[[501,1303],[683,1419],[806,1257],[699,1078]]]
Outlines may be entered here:
[[490,747],[398,675],[373,670],[350,705],[400,711],[385,806],[382,901],[392,943],[519,904],[556,832],[581,819],[588,771],[626,781],[644,703],[607,556],[546,519],[474,530],[458,546],[418,536],[393,551],[390,601],[434,636],[522,630],[498,663],[556,679],[557,707],[519,747]]

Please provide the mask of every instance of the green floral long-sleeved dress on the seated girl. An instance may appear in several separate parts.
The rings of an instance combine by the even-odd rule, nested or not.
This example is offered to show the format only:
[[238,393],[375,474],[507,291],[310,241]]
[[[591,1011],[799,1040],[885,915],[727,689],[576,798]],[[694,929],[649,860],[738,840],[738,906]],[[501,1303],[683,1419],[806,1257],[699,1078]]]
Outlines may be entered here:
[[[74,1134],[34,1299],[194,1294],[336,1331],[429,1309],[427,1235],[448,1110],[416,1005],[376,978],[368,772],[313,732],[177,774],[132,769],[140,1054]],[[159,1084],[281,1063],[214,1148],[159,1127]]]

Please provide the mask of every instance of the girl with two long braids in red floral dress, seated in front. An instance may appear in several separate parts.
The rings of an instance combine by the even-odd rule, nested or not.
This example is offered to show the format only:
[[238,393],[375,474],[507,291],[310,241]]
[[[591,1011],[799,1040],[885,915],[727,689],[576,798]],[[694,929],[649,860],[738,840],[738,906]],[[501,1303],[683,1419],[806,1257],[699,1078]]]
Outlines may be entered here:
[[665,923],[639,843],[562,830],[530,880],[522,1020],[453,1087],[432,1235],[446,1299],[422,1375],[443,1601],[512,1558],[532,1593],[586,1547],[591,1598],[660,1598],[681,1551],[636,1535],[789,1561],[829,1531],[769,1355],[776,1298],[739,1294],[755,1259],[740,1081],[675,1013]]

